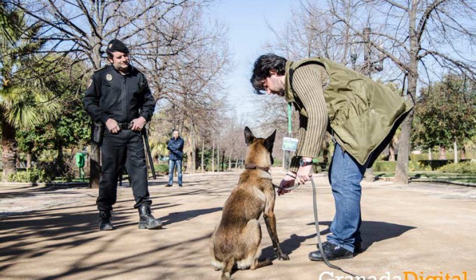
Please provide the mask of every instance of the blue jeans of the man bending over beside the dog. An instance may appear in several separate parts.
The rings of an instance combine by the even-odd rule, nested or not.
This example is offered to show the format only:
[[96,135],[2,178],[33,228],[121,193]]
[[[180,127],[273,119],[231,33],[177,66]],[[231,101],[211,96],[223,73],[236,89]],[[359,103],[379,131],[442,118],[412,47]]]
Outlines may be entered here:
[[327,239],[332,244],[337,244],[353,252],[355,241],[360,238],[360,195],[367,165],[360,165],[349,153],[342,151],[339,144],[335,143],[335,151],[330,163],[329,183],[335,200],[334,221],[330,225],[331,234]]

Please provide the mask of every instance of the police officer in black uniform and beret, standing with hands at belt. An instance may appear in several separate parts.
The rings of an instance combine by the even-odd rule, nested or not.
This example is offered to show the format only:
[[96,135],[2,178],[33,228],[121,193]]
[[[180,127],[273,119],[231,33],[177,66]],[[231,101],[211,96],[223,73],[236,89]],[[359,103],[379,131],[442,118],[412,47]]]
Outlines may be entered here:
[[112,230],[111,211],[116,203],[118,177],[125,165],[139,209],[139,228],[162,228],[151,214],[147,165],[141,130],[151,120],[155,100],[146,76],[130,65],[127,46],[112,40],[106,49],[111,64],[95,71],[87,87],[84,107],[94,122],[106,125],[101,145],[99,230]]

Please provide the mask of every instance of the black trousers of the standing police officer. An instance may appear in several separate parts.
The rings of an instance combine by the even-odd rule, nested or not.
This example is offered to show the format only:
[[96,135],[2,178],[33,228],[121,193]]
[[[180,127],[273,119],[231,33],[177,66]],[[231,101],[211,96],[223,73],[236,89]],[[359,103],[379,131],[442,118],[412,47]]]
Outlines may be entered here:
[[118,178],[124,165],[136,201],[134,208],[141,204],[152,204],[148,192],[147,163],[141,132],[120,130],[118,134],[111,134],[106,130],[101,146],[101,162],[99,197],[96,201],[99,211],[113,209],[112,206],[117,200]]

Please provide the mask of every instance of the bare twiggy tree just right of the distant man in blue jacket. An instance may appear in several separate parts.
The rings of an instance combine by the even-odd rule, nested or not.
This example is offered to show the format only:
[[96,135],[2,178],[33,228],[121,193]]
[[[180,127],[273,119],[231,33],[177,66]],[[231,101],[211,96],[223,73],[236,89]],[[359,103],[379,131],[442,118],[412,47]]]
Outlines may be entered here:
[[[180,35],[179,42],[165,47],[176,55],[160,61],[145,51],[143,62],[156,77],[153,87],[160,101],[159,111],[167,111],[165,118],[174,127],[179,127],[186,138],[187,167],[195,173],[197,144],[218,130],[220,119],[227,110],[221,80],[229,58],[223,26],[216,23],[210,29],[204,29],[201,9],[188,7],[187,10],[189,14],[184,20],[173,25],[172,33]],[[159,33],[147,35],[151,36],[151,42],[158,41],[155,36],[162,36]],[[155,43],[151,45],[152,50],[158,48]],[[176,52],[176,49],[180,51]]]

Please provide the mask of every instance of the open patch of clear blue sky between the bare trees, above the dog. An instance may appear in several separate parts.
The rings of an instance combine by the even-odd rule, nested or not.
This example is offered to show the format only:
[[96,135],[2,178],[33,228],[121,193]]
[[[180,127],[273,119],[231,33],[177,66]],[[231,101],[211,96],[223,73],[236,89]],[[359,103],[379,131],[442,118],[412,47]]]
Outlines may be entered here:
[[[212,18],[228,27],[228,46],[232,67],[226,76],[228,102],[235,106],[237,117],[244,118],[244,124],[253,126],[251,114],[256,111],[253,104],[253,90],[249,79],[253,62],[258,56],[269,52],[265,45],[272,41],[274,34],[268,24],[281,30],[290,18],[291,0],[223,0],[209,8]],[[263,96],[262,98],[267,98]]]

